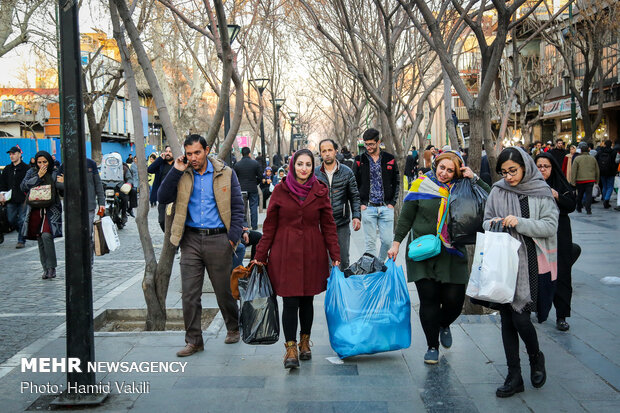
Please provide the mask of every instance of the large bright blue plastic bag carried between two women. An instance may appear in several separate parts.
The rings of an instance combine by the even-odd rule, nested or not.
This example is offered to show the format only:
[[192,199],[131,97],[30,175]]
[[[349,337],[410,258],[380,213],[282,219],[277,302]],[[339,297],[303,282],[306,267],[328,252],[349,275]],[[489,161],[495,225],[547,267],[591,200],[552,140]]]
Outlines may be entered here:
[[345,278],[333,267],[325,316],[332,349],[343,359],[411,345],[411,301],[405,275],[388,260],[386,272]]

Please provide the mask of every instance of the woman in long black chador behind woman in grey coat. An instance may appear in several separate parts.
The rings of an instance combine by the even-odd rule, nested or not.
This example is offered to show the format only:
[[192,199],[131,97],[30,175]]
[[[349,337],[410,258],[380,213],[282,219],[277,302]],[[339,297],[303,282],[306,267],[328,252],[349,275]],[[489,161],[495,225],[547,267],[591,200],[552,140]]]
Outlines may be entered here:
[[[558,220],[558,281],[557,290],[553,298],[556,312],[556,327],[560,331],[567,331],[570,326],[566,317],[570,317],[570,302],[573,294],[571,286],[571,267],[576,261],[573,247],[573,235],[568,214],[575,210],[574,188],[568,183],[562,173],[562,168],[555,158],[546,152],[541,152],[534,159],[536,167],[547,184],[551,187],[553,198],[560,209]],[[577,256],[575,256],[577,255]]]

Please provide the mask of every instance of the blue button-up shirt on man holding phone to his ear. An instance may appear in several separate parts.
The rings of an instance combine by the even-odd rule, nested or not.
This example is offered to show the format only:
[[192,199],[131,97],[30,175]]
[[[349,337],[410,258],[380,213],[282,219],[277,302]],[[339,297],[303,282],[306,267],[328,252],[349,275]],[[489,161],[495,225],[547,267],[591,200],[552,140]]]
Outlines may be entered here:
[[185,225],[193,228],[224,228],[213,194],[213,165],[207,160],[202,175],[194,171],[194,188],[187,205]]

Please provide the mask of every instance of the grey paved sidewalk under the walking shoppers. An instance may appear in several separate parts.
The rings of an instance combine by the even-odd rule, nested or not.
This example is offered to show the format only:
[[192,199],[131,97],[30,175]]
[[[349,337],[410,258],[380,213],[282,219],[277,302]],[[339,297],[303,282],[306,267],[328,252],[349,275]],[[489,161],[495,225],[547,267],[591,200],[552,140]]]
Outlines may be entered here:
[[[112,394],[97,411],[137,412],[617,412],[620,411],[620,286],[601,283],[620,276],[615,241],[620,213],[593,208],[594,215],[573,214],[574,240],[583,255],[573,269],[573,314],[569,332],[550,321],[536,325],[547,359],[548,379],[542,389],[529,383],[523,346],[525,392],[509,399],[495,397],[506,373],[498,316],[461,316],[453,325],[454,345],[440,349],[440,363],[424,365],[426,345],[417,309],[415,285],[410,284],[413,342],[409,349],[347,359],[332,364],[323,310],[323,296],[315,300],[313,359],[299,370],[282,367],[283,339],[271,346],[225,345],[225,329],[216,317],[205,332],[205,351],[179,359],[182,332],[97,333],[99,361],[182,361],[184,373],[109,373],[97,380],[112,383]],[[262,217],[261,217],[262,218]],[[136,248],[139,248],[136,246]],[[351,258],[363,249],[363,235],[354,233]],[[403,264],[403,256],[399,257]],[[141,275],[127,279],[114,293],[95,305],[105,308],[141,308]],[[178,261],[175,261],[168,303],[180,308]],[[106,301],[107,300],[107,301]],[[213,294],[203,305],[214,307]],[[63,357],[61,328],[35,341],[21,354]],[[42,346],[41,344],[44,343]],[[37,348],[37,346],[40,346]],[[2,373],[0,367],[0,374]],[[41,396],[20,392],[23,382],[64,385],[62,373],[22,373],[4,367],[0,378],[0,410],[23,411]],[[148,382],[150,392],[119,394],[114,383]],[[48,399],[51,396],[48,396]],[[39,401],[41,403],[41,401]]]

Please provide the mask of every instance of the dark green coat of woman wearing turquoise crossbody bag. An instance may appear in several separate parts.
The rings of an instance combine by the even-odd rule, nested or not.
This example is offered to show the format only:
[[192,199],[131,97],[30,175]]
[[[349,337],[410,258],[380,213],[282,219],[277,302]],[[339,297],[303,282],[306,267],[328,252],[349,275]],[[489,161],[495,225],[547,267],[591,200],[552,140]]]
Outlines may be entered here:
[[[478,179],[476,185],[486,192],[491,191],[491,188],[481,179]],[[437,233],[437,215],[439,214],[440,203],[439,198],[403,203],[403,209],[394,231],[394,241],[402,243],[403,239],[409,234],[405,248],[407,280],[414,282],[428,278],[442,283],[467,284],[469,269],[467,268],[467,253],[463,247],[459,248],[459,251],[463,252],[463,258],[449,254],[443,246],[439,255],[427,260],[413,261],[409,258],[409,244],[412,239]]]

